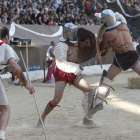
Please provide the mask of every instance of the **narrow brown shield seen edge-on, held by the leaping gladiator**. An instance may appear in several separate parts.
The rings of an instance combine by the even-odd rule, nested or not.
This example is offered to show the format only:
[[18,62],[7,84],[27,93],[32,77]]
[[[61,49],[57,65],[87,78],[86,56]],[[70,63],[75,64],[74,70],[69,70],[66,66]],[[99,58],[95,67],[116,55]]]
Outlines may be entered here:
[[96,38],[96,49],[97,49],[97,54],[98,54],[99,61],[101,64],[101,68],[102,68],[102,62],[101,62],[102,57],[101,57],[100,44],[101,44],[101,41],[103,40],[103,35],[104,35],[105,31],[106,31],[105,26],[101,25],[101,27],[98,31],[98,34],[97,34],[97,38]]

